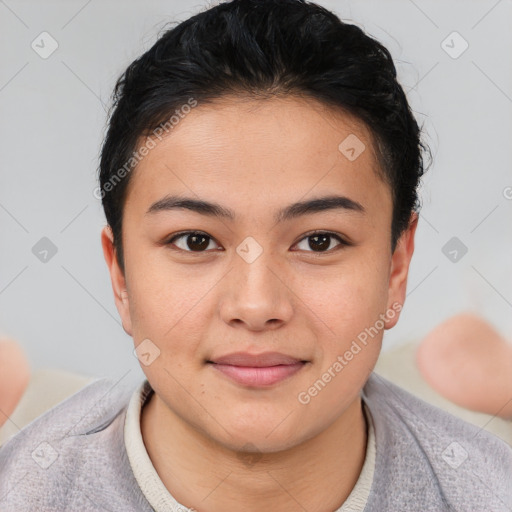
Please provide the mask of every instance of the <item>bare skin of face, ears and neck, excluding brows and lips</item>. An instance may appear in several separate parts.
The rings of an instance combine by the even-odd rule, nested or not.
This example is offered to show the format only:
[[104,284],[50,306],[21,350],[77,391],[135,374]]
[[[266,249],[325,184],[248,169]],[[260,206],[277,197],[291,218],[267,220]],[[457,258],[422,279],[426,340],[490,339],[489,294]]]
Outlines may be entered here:
[[[353,162],[338,150],[349,134],[366,145]],[[417,215],[391,254],[391,191],[377,165],[363,123],[290,96],[198,105],[138,164],[124,207],[124,275],[108,226],[101,240],[125,331],[135,346],[149,338],[160,350],[141,364],[155,390],[141,429],[181,504],[200,512],[238,511],[240,503],[248,512],[325,512],[353,489],[367,443],[359,393],[383,331],[399,315],[307,405],[297,396],[379,314],[404,303]],[[146,214],[166,194],[219,203],[236,220],[185,209]],[[332,194],[366,212],[274,221],[280,208]],[[186,236],[165,245],[182,230],[207,233],[206,250],[191,251]],[[353,245],[328,238],[318,250],[306,236],[313,230]],[[252,263],[236,252],[248,236],[263,249]],[[206,364],[235,351],[278,351],[308,363],[251,388]]]

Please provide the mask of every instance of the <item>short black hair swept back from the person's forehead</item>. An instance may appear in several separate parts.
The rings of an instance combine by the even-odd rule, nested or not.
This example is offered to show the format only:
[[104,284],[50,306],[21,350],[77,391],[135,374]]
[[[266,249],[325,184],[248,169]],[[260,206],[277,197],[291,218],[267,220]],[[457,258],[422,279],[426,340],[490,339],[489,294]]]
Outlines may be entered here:
[[127,162],[135,166],[141,137],[168,124],[191,98],[204,104],[228,95],[298,95],[362,120],[373,138],[377,172],[392,192],[394,252],[411,213],[419,211],[422,151],[430,151],[420,140],[389,51],[312,2],[232,0],[165,31],[115,85],[99,190],[123,272]]

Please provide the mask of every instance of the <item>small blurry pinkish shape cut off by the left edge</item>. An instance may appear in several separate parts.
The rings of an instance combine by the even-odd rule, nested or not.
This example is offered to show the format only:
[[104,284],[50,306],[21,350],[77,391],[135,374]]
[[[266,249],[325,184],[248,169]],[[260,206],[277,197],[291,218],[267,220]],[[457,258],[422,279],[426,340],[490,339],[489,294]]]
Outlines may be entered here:
[[0,427],[18,405],[30,380],[30,367],[21,347],[0,340]]

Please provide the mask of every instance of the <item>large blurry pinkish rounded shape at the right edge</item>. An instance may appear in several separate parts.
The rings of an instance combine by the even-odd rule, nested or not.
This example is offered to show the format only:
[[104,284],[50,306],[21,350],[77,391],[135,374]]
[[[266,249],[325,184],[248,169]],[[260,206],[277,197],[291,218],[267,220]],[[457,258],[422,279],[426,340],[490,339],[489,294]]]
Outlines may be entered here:
[[512,420],[512,343],[483,318],[455,315],[421,340],[416,364],[448,400]]

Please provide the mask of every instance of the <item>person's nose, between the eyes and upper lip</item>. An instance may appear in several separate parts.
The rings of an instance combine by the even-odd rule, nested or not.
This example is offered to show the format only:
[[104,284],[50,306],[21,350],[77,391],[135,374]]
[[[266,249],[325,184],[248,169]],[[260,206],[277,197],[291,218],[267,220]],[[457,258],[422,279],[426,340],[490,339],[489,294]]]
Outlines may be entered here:
[[293,292],[286,285],[285,272],[265,251],[249,261],[237,255],[234,268],[223,280],[220,315],[232,327],[278,329],[293,314]]

